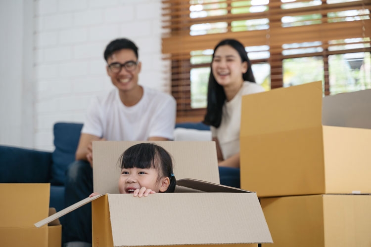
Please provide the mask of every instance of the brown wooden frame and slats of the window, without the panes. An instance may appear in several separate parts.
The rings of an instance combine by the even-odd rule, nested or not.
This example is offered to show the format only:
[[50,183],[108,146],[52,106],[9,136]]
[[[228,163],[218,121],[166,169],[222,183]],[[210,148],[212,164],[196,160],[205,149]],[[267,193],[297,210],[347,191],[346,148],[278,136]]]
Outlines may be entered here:
[[[306,0],[297,0],[305,2]],[[328,56],[335,54],[346,54],[356,52],[371,52],[371,48],[363,47],[356,49],[332,50],[328,49],[329,41],[345,40],[349,38],[368,38],[370,39],[370,8],[371,3],[367,0],[356,0],[340,3],[326,3],[322,0],[321,5],[281,9],[284,4],[280,0],[270,0],[268,3],[269,10],[260,13],[232,14],[232,2],[242,2],[241,0],[225,0],[214,3],[227,3],[227,14],[225,16],[209,16],[204,18],[190,18],[190,1],[189,0],[162,0],[163,4],[163,28],[165,33],[162,38],[162,52],[164,59],[171,60],[171,84],[172,94],[177,100],[177,122],[201,121],[205,114],[205,109],[192,109],[190,107],[190,70],[199,67],[209,67],[210,64],[190,63],[190,51],[213,49],[218,41],[226,38],[234,38],[241,41],[244,45],[269,45],[270,57],[268,59],[251,60],[252,64],[266,62],[271,66],[271,89],[283,86],[283,68],[282,61],[287,58],[322,56],[324,61],[324,94],[330,94]],[[367,20],[355,20],[351,22],[327,22],[328,13],[346,11],[348,9],[365,9],[368,10],[365,18]],[[175,13],[175,14],[174,14]],[[322,24],[282,27],[281,18],[289,15],[303,15],[310,13],[321,13]],[[368,16],[368,17],[367,17]],[[231,25],[234,20],[241,19],[258,19],[269,18],[269,29],[232,32]],[[191,25],[205,22],[226,21],[228,31],[226,33],[206,34],[199,36],[190,36]],[[343,27],[343,28],[342,28]],[[341,31],[336,29],[342,28]],[[329,30],[331,34],[327,34]],[[345,33],[345,34],[344,34]],[[246,37],[247,36],[247,37]],[[288,36],[288,37],[285,37]],[[322,52],[283,55],[285,50],[282,45],[292,42],[313,42],[321,41],[320,47]],[[367,41],[360,42],[367,43]],[[170,55],[169,55],[170,54]]]

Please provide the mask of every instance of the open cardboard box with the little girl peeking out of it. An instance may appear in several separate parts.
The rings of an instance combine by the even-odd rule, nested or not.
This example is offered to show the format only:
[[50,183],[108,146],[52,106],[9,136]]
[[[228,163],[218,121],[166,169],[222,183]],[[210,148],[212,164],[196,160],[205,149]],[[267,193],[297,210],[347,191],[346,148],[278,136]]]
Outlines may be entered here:
[[40,227],[92,202],[94,247],[272,243],[256,193],[180,179],[190,169],[195,176],[219,181],[214,142],[155,142],[174,158],[179,193],[145,198],[115,194],[120,174],[118,158],[137,143],[94,142],[94,190],[114,193],[87,198],[35,225]]

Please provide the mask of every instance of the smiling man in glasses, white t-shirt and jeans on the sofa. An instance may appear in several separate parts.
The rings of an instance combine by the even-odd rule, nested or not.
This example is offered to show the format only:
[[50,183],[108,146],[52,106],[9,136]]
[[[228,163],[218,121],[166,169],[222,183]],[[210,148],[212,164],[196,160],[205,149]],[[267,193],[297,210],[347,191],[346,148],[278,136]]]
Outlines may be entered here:
[[[81,130],[76,162],[67,170],[66,206],[93,193],[93,141],[171,140],[175,127],[175,99],[140,86],[138,47],[127,39],[111,41],[105,51],[107,75],[116,87],[90,105]],[[64,216],[65,247],[91,247],[92,209],[83,206]]]

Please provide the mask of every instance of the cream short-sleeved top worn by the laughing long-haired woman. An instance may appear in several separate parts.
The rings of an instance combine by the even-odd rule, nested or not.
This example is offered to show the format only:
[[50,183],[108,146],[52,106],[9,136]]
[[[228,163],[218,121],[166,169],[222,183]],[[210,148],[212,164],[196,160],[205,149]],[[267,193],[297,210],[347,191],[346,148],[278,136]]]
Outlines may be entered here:
[[229,102],[223,105],[222,122],[218,128],[211,126],[213,138],[218,138],[223,159],[226,160],[239,152],[239,130],[241,125],[242,95],[265,91],[254,82],[243,82],[241,89]]

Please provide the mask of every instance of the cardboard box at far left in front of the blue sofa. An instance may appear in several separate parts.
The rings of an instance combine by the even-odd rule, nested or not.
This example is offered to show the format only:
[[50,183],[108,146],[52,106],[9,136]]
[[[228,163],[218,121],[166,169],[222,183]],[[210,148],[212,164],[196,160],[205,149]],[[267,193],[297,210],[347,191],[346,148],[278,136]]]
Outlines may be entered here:
[[[49,214],[50,184],[0,184],[0,240],[4,247],[60,247],[59,221],[36,228]],[[54,209],[55,212],[55,209]]]

